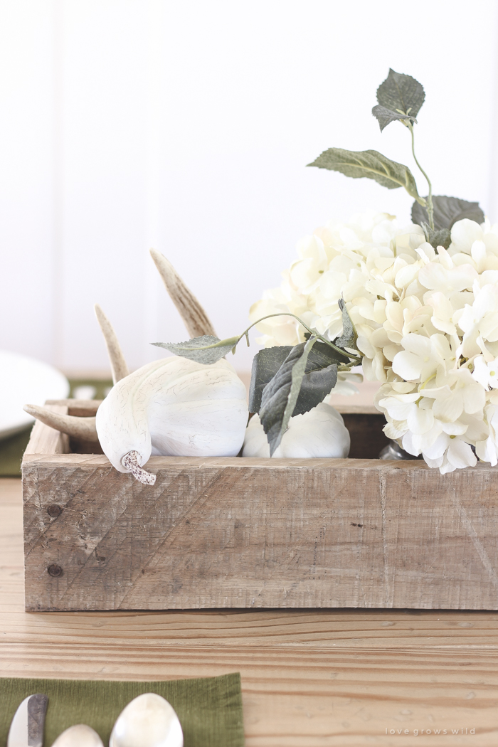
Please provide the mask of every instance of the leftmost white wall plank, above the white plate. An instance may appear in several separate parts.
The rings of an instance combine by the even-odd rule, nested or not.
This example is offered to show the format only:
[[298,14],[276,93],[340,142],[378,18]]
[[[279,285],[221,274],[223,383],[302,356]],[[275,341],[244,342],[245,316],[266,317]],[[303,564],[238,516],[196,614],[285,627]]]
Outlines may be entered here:
[[0,347],[51,360],[53,17],[0,3]]

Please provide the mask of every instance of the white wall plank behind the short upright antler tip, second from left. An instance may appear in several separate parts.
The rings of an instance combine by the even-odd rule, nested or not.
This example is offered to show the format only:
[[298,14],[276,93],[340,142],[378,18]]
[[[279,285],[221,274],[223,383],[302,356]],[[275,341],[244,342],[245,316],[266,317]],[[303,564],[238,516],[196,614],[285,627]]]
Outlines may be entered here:
[[[105,349],[98,301],[131,355],[142,337],[146,241],[146,17],[130,0],[68,2],[63,13],[64,326],[61,365]],[[135,364],[136,365],[136,364]]]

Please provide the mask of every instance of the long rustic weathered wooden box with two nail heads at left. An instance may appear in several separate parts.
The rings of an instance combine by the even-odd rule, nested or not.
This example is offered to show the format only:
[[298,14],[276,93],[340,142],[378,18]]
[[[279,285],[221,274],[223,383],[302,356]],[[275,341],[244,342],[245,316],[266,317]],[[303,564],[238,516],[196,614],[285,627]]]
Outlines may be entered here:
[[[96,405],[50,404],[73,415]],[[375,456],[382,416],[352,410],[352,456]],[[153,457],[150,487],[89,446],[34,426],[22,465],[27,610],[498,609],[493,468]]]

